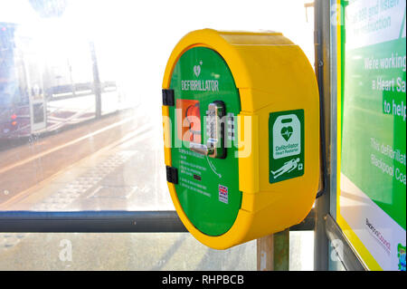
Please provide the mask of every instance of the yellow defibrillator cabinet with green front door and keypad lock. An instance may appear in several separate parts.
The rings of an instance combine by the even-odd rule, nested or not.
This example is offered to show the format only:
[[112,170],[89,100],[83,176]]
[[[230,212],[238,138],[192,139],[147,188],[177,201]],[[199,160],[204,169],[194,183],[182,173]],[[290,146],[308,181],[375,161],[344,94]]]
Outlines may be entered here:
[[319,178],[317,80],[279,33],[186,34],[163,82],[166,178],[178,216],[224,249],[301,222]]

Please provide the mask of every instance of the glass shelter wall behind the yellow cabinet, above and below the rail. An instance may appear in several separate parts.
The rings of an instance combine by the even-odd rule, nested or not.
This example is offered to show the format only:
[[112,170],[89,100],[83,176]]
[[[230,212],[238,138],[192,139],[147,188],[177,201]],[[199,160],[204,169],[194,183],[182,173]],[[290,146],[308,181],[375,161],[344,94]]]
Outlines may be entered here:
[[[34,3],[0,9],[0,210],[173,210],[160,90],[189,31],[280,31],[314,63],[302,1]],[[310,269],[298,234],[290,269]],[[215,251],[181,233],[0,233],[0,270],[255,270],[255,256],[255,241]]]

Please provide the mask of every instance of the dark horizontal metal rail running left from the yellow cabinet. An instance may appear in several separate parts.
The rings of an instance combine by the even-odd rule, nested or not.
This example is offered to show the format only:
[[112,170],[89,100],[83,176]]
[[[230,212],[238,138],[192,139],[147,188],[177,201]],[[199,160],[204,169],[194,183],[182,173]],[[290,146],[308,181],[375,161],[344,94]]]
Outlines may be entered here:
[[5,233],[187,232],[175,211],[1,211]]

